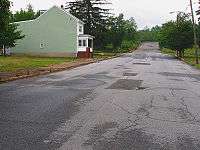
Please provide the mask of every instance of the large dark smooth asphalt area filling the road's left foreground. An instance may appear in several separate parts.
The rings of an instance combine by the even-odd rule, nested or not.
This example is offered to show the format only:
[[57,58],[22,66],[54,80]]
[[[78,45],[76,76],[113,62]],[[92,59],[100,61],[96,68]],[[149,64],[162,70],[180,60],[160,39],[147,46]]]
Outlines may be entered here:
[[[36,87],[2,94],[0,149],[49,149],[43,141],[60,124],[77,114],[88,100],[92,100],[84,100],[85,104],[82,100],[91,94],[91,90]],[[54,145],[51,145],[54,149],[52,147]]]

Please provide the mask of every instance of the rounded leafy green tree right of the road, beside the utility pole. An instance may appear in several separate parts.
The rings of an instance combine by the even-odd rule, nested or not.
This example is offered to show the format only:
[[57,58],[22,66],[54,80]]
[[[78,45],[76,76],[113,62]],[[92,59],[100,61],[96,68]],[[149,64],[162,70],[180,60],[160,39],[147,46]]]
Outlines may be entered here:
[[170,21],[163,24],[159,33],[160,45],[179,52],[179,56],[185,49],[193,46],[192,22],[185,13],[179,13],[177,21]]

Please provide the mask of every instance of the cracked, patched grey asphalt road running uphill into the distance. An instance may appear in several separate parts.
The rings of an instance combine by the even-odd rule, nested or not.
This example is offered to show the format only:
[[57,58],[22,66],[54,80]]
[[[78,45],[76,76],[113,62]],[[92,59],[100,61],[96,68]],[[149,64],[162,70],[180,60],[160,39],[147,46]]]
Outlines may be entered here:
[[0,85],[0,150],[200,150],[200,71],[156,43]]

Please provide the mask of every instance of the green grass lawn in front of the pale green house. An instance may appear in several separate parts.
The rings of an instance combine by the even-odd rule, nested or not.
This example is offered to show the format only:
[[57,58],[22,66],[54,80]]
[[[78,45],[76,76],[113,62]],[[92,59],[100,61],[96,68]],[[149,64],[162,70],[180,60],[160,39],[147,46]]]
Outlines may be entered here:
[[35,69],[52,64],[74,61],[74,58],[52,58],[31,56],[0,56],[0,72],[13,72],[18,69]]

